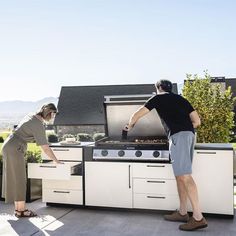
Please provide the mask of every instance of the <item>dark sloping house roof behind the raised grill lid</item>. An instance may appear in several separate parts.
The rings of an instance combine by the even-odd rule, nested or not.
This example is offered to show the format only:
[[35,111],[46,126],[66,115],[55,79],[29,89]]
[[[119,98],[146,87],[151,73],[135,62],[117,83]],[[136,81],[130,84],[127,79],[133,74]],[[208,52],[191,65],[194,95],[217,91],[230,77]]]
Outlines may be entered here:
[[[54,125],[104,125],[104,96],[152,94],[154,84],[62,87]],[[177,93],[177,84],[173,85]]]

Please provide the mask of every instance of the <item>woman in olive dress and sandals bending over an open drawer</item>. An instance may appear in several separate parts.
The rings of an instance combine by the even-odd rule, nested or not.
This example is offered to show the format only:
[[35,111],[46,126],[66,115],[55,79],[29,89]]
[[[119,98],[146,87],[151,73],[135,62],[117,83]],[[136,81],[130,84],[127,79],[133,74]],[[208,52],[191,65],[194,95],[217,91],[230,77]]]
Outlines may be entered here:
[[15,202],[16,217],[33,217],[37,214],[26,209],[26,167],[24,155],[27,143],[35,141],[55,163],[60,163],[48,145],[43,122],[55,117],[57,109],[49,103],[36,114],[29,114],[20,122],[2,147],[3,181],[2,197],[6,203]]

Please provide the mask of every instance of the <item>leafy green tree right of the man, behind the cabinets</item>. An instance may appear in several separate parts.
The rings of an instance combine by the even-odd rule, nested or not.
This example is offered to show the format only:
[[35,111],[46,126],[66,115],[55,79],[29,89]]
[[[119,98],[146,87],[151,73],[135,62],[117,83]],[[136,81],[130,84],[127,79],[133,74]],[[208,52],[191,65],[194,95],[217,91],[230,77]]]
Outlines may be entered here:
[[207,72],[203,78],[187,74],[183,96],[201,118],[201,126],[197,129],[197,142],[228,143],[234,127],[235,98],[232,96],[231,87],[224,90],[218,83],[211,83]]

